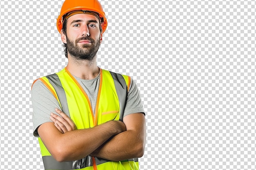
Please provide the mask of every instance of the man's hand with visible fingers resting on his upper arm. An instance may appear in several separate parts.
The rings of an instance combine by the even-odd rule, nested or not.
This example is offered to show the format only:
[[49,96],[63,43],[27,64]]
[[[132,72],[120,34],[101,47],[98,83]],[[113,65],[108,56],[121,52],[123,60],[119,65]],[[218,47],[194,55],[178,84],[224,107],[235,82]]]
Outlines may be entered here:
[[55,111],[62,117],[51,113],[50,119],[54,122],[54,125],[61,133],[76,130],[76,125],[65,113],[57,108],[55,109]]

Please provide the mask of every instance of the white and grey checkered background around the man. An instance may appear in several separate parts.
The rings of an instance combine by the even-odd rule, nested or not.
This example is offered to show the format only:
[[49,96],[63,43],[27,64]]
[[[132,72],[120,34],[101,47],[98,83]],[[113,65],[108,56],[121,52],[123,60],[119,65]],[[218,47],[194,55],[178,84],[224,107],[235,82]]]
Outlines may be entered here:
[[[0,1],[0,169],[43,169],[30,89],[67,64],[62,3]],[[101,4],[98,65],[132,76],[146,110],[140,169],[256,169],[255,1]]]

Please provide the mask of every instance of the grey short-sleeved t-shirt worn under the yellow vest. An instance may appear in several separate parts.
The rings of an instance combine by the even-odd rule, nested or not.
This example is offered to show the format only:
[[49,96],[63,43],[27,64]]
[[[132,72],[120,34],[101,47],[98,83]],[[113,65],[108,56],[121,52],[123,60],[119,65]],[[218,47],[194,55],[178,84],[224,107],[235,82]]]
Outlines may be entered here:
[[[85,90],[90,99],[93,113],[95,113],[100,74],[92,80],[85,80],[76,76],[74,76],[74,78],[76,78]],[[36,81],[31,89],[31,101],[33,105],[34,136],[39,137],[37,133],[38,127],[45,122],[52,122],[52,120],[50,120],[50,113],[56,113],[54,109],[61,109],[61,107],[52,92],[50,92],[40,80]],[[141,103],[138,87],[131,79],[130,88],[126,98],[126,106],[124,108],[124,117],[132,113],[145,114],[145,111]]]

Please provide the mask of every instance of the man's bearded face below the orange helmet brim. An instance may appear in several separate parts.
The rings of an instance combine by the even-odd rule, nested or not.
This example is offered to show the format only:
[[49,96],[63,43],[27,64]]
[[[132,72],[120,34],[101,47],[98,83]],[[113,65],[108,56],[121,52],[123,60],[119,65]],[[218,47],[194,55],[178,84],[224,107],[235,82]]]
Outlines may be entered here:
[[92,61],[102,41],[99,20],[90,14],[75,14],[67,19],[66,33],[61,33],[67,51],[78,60]]

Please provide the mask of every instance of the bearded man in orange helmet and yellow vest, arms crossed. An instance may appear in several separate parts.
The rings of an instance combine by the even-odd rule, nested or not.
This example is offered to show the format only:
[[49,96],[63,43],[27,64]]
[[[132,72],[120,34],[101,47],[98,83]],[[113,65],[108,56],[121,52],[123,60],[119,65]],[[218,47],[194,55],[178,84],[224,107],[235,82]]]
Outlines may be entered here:
[[137,170],[146,121],[129,76],[97,67],[107,20],[98,0],[65,0],[57,19],[67,66],[31,88],[45,169]]

